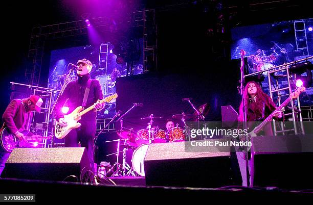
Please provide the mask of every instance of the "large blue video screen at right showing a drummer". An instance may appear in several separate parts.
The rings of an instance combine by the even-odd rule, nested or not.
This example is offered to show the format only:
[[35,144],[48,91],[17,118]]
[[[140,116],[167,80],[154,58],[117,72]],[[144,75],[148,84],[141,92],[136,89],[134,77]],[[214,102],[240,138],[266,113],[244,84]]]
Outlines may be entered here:
[[[244,56],[246,60],[245,74],[313,56],[313,18],[233,28],[231,36],[231,59],[240,59],[241,49],[246,53]],[[312,59],[309,61],[312,62]],[[313,73],[312,70],[311,73]],[[279,78],[279,74],[284,75],[285,73],[282,71],[275,75],[278,79],[278,87],[282,88],[288,84],[286,78]],[[301,75],[306,76],[307,73]],[[264,78],[260,78],[258,75],[262,89],[265,93],[269,93],[267,73],[263,72],[262,76]],[[274,76],[271,77],[271,80],[275,84]],[[306,81],[312,82],[310,79],[306,79]],[[300,95],[301,106],[313,105],[312,87],[312,84],[307,85],[306,92]],[[280,94],[287,93],[281,91]],[[274,96],[274,101],[277,102],[277,96]]]

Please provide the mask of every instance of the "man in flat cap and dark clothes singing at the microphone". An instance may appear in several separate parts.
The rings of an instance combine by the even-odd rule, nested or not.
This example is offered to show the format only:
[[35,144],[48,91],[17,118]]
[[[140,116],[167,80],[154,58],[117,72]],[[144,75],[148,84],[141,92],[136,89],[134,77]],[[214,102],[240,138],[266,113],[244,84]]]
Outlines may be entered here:
[[96,115],[97,110],[104,108],[104,103],[100,102],[103,99],[103,93],[99,81],[90,79],[93,64],[87,59],[82,59],[77,62],[77,66],[78,79],[66,85],[55,107],[55,114],[59,124],[67,126],[68,122],[62,113],[63,106],[69,107],[68,113],[71,113],[79,106],[87,108],[94,105],[93,111],[81,116],[78,122],[80,126],[71,130],[64,138],[65,147],[78,147],[79,144],[86,147],[91,167],[94,167],[93,144],[96,134]]

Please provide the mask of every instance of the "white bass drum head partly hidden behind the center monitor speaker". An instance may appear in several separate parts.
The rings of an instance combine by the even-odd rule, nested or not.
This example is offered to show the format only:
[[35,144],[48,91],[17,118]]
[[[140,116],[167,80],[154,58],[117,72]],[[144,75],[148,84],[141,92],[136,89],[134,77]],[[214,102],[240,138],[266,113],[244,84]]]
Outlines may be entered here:
[[138,173],[140,176],[145,176],[145,169],[143,163],[146,157],[148,147],[149,144],[143,144],[132,153],[131,158],[132,167],[136,171],[136,173]]

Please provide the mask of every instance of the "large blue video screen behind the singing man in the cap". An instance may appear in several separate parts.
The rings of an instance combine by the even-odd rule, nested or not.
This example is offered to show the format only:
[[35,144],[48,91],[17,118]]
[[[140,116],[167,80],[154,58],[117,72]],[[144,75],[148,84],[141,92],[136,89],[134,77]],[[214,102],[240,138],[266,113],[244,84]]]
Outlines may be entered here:
[[[129,63],[127,56],[119,55],[125,53],[119,45],[115,46],[109,42],[101,43],[99,46],[84,45],[71,48],[57,49],[51,51],[48,87],[61,90],[64,81],[77,80],[76,71],[71,69],[70,63],[76,64],[80,59],[88,59],[92,62],[93,68],[91,78],[100,82],[103,96],[108,96],[116,91],[116,80],[126,75],[137,75],[143,73],[142,39],[138,40],[135,50],[136,58]],[[133,52],[134,49],[131,50]],[[134,53],[132,53],[134,55]],[[124,58],[124,59],[123,59]],[[131,71],[132,65],[132,71]],[[130,73],[132,72],[132,73]],[[52,105],[55,103],[59,92],[52,98]],[[115,115],[115,100],[107,104],[105,109],[98,112],[98,118],[110,118]]]

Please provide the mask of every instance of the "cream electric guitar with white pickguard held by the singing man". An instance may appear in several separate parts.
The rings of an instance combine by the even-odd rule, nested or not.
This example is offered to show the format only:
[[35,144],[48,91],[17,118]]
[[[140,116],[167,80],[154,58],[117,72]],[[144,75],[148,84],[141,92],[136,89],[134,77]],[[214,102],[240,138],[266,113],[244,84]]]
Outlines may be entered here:
[[[109,102],[114,98],[117,98],[118,94],[113,94],[110,96],[105,97],[100,102]],[[87,112],[93,110],[95,108],[94,105],[90,106],[89,108],[83,110],[82,106],[77,107],[72,113],[68,115],[64,115],[65,121],[68,123],[66,126],[61,126],[60,123],[57,121],[55,125],[54,134],[55,137],[58,139],[64,138],[66,135],[68,135],[73,129],[77,129],[80,127],[80,123],[78,122],[82,115],[86,114]]]

